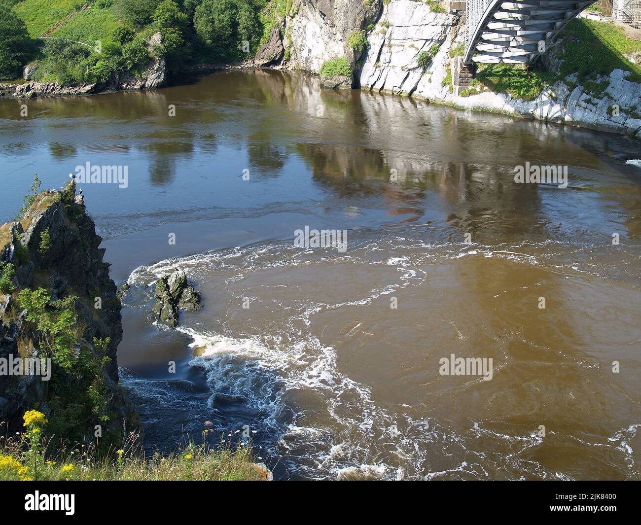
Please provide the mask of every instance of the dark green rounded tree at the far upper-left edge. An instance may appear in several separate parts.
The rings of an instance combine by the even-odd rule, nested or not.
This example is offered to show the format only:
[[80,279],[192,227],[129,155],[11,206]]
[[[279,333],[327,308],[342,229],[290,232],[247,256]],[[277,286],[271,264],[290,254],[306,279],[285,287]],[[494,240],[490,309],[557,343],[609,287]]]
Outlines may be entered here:
[[27,26],[13,11],[0,5],[0,78],[18,78],[36,47]]

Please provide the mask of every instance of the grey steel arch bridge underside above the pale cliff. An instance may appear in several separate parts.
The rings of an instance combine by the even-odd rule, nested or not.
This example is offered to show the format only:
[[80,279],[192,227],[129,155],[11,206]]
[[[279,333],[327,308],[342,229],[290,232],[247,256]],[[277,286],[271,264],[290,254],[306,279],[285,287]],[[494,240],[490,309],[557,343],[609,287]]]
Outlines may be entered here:
[[597,0],[467,0],[463,63],[533,63]]

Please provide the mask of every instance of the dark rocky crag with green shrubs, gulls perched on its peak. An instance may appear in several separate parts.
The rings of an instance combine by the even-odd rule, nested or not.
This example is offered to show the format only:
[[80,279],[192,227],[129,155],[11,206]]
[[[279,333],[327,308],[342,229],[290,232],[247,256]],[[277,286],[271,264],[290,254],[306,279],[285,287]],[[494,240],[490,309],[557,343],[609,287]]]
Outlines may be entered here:
[[[0,422],[19,429],[37,408],[58,442],[119,444],[136,416],[117,384],[121,302],[102,239],[74,183],[32,201],[0,228],[0,360],[52,358],[51,377],[0,365]],[[25,290],[42,296],[26,299]],[[44,297],[42,310],[33,297]]]

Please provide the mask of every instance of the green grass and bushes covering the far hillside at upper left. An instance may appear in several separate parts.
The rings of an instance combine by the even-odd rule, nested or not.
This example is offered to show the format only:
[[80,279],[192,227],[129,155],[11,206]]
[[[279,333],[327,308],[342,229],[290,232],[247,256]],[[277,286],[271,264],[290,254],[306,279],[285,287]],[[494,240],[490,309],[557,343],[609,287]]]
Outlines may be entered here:
[[[17,78],[24,64],[35,60],[35,80],[106,85],[116,74],[141,76],[149,60],[160,54],[167,58],[170,74],[194,62],[244,60],[256,52],[265,33],[269,36],[276,13],[283,16],[292,9],[292,0],[277,0],[265,15],[267,1],[98,0],[81,10],[85,0],[0,0],[0,8],[13,10],[13,19],[0,17],[0,44],[4,34],[15,33],[8,26],[3,31],[8,21],[25,22],[24,40],[72,15],[50,38],[36,40],[37,53],[35,46],[26,45],[31,40],[15,35],[15,50],[0,45],[0,76]],[[157,32],[162,44],[148,46]],[[6,72],[3,54],[10,56],[4,61]]]

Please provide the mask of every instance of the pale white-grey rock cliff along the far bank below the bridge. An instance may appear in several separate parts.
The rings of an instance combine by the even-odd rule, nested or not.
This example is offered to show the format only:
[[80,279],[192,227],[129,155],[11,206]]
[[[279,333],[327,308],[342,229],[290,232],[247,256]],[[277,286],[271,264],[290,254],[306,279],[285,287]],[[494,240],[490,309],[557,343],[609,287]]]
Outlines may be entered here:
[[[317,73],[323,62],[346,56],[354,71],[353,87],[641,139],[641,84],[630,81],[629,72],[622,69],[595,79],[607,85],[599,96],[571,74],[531,101],[487,88],[455,95],[450,54],[463,44],[464,16],[442,12],[437,5],[413,0],[294,0],[288,15],[279,21],[284,53],[277,60],[272,53],[271,65]],[[349,35],[358,29],[366,31],[369,41],[362,52],[349,45]],[[274,38],[269,45],[272,50],[279,48]],[[429,56],[428,64],[419,63],[422,54]],[[554,53],[549,53],[547,65],[551,71],[558,69]],[[613,112],[613,106],[617,111]]]

